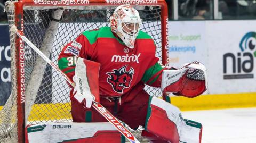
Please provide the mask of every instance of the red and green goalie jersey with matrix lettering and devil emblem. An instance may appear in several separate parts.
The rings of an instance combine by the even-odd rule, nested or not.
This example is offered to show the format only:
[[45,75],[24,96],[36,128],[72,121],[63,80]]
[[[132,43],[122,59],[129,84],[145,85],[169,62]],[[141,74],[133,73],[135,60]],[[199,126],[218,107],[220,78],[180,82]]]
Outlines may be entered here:
[[75,74],[76,56],[101,64],[99,71],[100,96],[121,96],[139,82],[159,87],[163,68],[155,57],[151,37],[140,31],[134,49],[117,38],[110,27],[85,31],[67,44],[60,53],[59,68],[70,79]]

